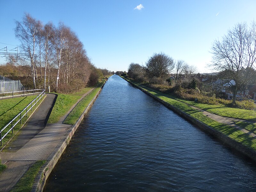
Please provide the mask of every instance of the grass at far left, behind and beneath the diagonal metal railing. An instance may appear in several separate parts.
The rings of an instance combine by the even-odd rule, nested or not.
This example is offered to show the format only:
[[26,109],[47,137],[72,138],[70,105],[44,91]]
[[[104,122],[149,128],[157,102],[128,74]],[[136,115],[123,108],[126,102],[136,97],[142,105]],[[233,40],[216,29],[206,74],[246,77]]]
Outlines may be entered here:
[[[0,100],[0,128],[3,129],[4,126],[6,124],[8,124],[15,116],[17,116],[25,107],[27,107],[27,105],[34,100],[37,97],[37,95],[34,96],[26,96],[26,97],[18,97],[18,98],[13,98],[13,99],[4,99],[4,100]],[[39,103],[42,101],[42,99],[39,101]],[[37,104],[38,106],[38,104]],[[33,107],[33,111],[36,107]],[[32,114],[33,111],[28,111],[28,117]],[[26,113],[26,111],[24,111],[21,116],[23,116]],[[8,133],[4,139],[3,139],[3,144],[7,143],[12,136],[17,133],[20,128],[23,126],[24,122],[26,122],[26,120],[28,119],[28,117],[24,116],[21,120],[21,124],[18,123],[16,124],[16,126],[13,128],[13,134],[12,132]],[[18,121],[15,120],[13,122],[13,125]],[[11,125],[9,125],[3,132],[2,132],[2,136],[4,136],[4,134],[9,131],[9,129],[11,128]],[[4,146],[4,145],[2,145]],[[2,146],[0,146],[0,148],[2,148]]]

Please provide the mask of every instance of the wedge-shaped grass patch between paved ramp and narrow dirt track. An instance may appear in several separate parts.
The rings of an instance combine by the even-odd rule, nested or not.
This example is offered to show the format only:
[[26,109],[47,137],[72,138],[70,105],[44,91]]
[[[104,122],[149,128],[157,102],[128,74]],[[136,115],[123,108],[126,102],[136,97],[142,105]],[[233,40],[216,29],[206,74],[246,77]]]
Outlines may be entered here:
[[79,92],[69,94],[57,94],[56,102],[52,108],[48,123],[57,123],[62,116],[79,100],[86,92],[90,91],[92,87],[86,87]]

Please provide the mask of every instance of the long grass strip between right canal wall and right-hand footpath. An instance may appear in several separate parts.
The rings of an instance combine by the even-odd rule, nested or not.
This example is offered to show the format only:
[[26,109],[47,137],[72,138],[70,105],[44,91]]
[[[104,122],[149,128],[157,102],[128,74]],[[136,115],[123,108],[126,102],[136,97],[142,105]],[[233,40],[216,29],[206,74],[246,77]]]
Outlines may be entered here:
[[[127,80],[128,82],[132,82],[130,80]],[[172,106],[182,110],[183,112],[187,113],[188,115],[194,117],[195,119],[203,122],[204,124],[212,127],[213,129],[222,132],[223,134],[227,135],[228,137],[242,143],[243,145],[252,148],[253,150],[256,150],[256,139],[252,136],[237,130],[236,128],[233,128],[231,126],[228,126],[226,124],[219,123],[207,116],[205,116],[202,112],[199,110],[192,108],[188,106],[186,103],[181,102],[179,100],[173,99],[172,97],[152,90],[151,88],[145,87],[141,84],[137,84],[132,82],[133,84],[143,88],[145,91],[148,91],[149,93],[155,95],[156,97],[166,101],[167,103],[171,104]],[[241,113],[241,112],[240,112]]]

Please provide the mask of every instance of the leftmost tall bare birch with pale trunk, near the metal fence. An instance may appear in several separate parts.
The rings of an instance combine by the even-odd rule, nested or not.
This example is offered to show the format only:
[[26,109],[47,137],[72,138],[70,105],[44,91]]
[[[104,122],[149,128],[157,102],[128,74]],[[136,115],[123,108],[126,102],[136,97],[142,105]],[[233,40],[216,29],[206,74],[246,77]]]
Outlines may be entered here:
[[23,17],[23,21],[16,21],[15,36],[21,41],[22,48],[29,53],[31,63],[31,75],[33,77],[33,85],[36,88],[36,35],[40,30],[41,21],[35,20],[28,13]]

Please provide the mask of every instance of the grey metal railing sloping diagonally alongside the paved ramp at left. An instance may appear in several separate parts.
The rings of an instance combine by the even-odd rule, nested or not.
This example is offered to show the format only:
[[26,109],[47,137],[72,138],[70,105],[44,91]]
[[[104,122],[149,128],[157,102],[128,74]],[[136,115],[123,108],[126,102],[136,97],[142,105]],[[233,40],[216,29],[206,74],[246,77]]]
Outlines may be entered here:
[[[14,128],[14,126],[17,125],[19,122],[20,122],[20,124],[21,124],[21,119],[22,119],[24,116],[28,117],[28,112],[29,112],[30,110],[33,111],[33,107],[36,106],[36,103],[37,103],[40,99],[42,99],[42,97],[44,96],[44,94],[45,94],[45,90],[43,90],[43,91],[36,97],[36,99],[34,99],[33,101],[31,101],[31,102],[28,104],[27,107],[25,107],[17,116],[15,116],[15,117],[12,119],[12,121],[10,121],[7,125],[4,126],[4,128],[0,131],[0,144],[1,144],[1,145],[2,145],[2,140],[4,139],[4,137],[5,137],[10,131],[12,131],[12,133],[13,133],[13,128]],[[33,103],[34,103],[34,104],[33,104]],[[30,108],[29,108],[29,107],[30,107]],[[26,112],[25,112],[25,111],[26,111]],[[23,112],[25,112],[24,115],[22,115]],[[17,120],[16,123],[14,123],[17,118],[19,118],[19,119]],[[2,136],[2,132],[3,132],[9,125],[11,126],[11,128],[9,129],[9,131],[7,131],[7,132],[4,134],[4,136]]]

